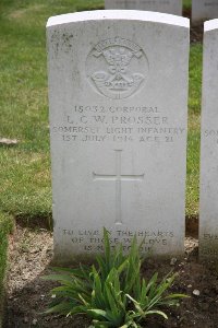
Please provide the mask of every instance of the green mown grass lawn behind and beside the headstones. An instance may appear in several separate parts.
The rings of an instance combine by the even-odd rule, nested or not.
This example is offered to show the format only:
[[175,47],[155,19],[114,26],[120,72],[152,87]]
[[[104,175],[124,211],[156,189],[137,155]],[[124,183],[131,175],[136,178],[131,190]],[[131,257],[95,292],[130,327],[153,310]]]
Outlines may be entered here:
[[[190,7],[190,0],[185,0]],[[1,0],[0,210],[23,220],[49,221],[51,184],[45,26],[49,16],[104,9],[102,0]],[[202,46],[191,47],[186,214],[198,213]],[[1,223],[0,268],[4,267],[7,224]],[[0,281],[3,271],[0,272]]]

